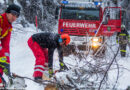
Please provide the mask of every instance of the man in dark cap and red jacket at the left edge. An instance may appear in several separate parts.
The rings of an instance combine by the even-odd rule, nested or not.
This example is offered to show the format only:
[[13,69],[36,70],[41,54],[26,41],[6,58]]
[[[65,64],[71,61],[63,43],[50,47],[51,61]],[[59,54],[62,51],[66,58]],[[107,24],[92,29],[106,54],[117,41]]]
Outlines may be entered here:
[[2,77],[3,72],[11,77],[10,73],[10,38],[12,23],[19,17],[20,7],[11,4],[7,7],[5,13],[0,15],[0,85],[6,84]]

